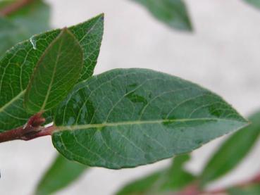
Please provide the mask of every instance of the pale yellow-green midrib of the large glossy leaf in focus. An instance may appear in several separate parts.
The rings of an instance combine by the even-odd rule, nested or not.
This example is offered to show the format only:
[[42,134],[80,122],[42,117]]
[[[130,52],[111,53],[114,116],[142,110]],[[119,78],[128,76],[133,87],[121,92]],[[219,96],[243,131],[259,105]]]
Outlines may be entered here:
[[240,120],[222,119],[222,118],[182,118],[182,119],[163,119],[163,120],[134,120],[134,121],[123,121],[123,122],[106,122],[99,124],[86,124],[86,125],[68,125],[68,126],[56,126],[56,131],[63,130],[85,130],[90,128],[102,128],[102,127],[116,127],[122,125],[146,125],[146,124],[156,124],[163,122],[192,122],[192,121],[233,121],[244,123],[243,126],[247,125],[247,122]]

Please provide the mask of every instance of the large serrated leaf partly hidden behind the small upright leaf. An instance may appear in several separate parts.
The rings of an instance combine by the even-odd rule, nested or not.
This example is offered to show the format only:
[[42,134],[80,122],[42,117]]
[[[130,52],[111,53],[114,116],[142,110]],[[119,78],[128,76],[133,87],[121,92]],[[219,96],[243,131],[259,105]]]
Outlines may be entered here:
[[[85,23],[68,28],[83,49],[84,66],[80,80],[93,74],[99,56],[103,34],[104,15],[98,15]],[[24,125],[28,114],[23,108],[23,96],[30,77],[49,44],[61,30],[52,30],[36,35],[17,44],[0,60],[0,132]]]

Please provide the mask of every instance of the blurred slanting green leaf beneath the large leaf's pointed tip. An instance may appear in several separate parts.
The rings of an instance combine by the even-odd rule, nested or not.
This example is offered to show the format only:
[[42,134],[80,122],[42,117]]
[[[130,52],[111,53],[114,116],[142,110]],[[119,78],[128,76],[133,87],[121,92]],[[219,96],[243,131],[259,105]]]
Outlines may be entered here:
[[202,172],[202,185],[233,170],[247,156],[260,137],[260,112],[251,115],[249,120],[252,124],[231,135],[213,154]]

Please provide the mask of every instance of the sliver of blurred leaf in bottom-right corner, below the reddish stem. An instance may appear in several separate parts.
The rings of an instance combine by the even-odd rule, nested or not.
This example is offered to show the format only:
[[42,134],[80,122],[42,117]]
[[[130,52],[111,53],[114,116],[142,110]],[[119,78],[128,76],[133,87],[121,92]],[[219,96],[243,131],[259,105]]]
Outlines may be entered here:
[[260,184],[252,184],[246,187],[233,187],[228,189],[229,195],[259,195]]

